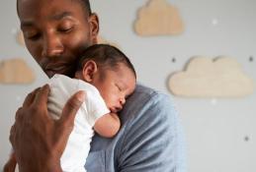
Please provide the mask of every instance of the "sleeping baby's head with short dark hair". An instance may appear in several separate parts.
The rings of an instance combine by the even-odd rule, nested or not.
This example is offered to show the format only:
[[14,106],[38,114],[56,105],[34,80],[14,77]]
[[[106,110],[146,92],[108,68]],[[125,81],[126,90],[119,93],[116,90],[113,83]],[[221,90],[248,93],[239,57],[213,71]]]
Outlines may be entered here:
[[114,113],[123,109],[136,84],[135,70],[128,57],[107,44],[92,45],[84,51],[75,78],[96,86]]

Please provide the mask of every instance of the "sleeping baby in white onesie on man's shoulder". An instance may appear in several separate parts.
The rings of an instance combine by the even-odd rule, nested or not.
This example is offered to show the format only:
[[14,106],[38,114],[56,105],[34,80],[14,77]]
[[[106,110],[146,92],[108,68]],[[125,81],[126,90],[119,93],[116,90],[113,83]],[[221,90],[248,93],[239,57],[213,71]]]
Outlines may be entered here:
[[94,132],[107,138],[118,133],[121,123],[117,113],[123,109],[135,83],[136,74],[128,57],[107,44],[96,44],[84,51],[75,79],[63,75],[50,79],[48,112],[56,120],[72,94],[78,90],[86,92],[60,159],[63,171],[86,171],[84,165]]

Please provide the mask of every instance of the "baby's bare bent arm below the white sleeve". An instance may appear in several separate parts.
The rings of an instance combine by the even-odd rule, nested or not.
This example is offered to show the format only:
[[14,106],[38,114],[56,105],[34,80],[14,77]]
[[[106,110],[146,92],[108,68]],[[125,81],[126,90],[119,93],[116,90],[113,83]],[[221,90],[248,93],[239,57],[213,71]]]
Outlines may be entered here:
[[120,126],[118,114],[108,113],[95,122],[94,130],[102,137],[113,138],[119,132]]

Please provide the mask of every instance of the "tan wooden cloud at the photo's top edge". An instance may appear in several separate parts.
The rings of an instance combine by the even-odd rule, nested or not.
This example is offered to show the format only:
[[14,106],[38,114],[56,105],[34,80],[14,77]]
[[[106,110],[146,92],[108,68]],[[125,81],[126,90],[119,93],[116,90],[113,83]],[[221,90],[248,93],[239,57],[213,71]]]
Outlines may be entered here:
[[142,36],[176,35],[183,32],[184,26],[176,7],[166,0],[150,0],[139,9],[134,30]]

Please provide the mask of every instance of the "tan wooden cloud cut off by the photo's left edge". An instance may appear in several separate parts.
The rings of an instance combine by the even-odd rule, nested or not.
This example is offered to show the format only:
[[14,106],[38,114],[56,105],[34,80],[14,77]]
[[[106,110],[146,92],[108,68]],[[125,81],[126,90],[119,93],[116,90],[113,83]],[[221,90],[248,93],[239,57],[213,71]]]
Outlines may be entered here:
[[10,59],[0,62],[0,84],[31,84],[35,75],[23,59]]

